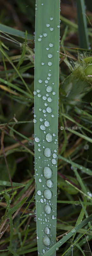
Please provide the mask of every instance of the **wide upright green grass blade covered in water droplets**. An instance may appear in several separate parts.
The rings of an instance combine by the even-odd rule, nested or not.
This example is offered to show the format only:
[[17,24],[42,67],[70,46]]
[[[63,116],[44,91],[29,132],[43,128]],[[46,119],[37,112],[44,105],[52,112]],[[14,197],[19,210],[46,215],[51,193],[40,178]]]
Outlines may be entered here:
[[35,182],[41,256],[56,244],[60,1],[37,0],[36,4]]

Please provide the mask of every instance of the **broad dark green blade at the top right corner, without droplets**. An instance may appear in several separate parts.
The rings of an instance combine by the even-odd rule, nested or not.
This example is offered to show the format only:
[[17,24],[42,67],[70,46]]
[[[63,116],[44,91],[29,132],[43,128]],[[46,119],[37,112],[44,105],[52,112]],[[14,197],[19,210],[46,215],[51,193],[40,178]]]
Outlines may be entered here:
[[84,0],[77,0],[77,20],[79,32],[79,46],[80,48],[88,49],[89,42]]

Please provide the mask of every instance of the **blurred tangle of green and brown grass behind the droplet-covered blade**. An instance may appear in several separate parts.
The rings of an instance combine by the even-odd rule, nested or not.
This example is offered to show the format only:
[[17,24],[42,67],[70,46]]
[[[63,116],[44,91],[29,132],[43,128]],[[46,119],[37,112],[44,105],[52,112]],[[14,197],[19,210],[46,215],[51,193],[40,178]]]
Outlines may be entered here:
[[[57,241],[92,214],[92,4],[85,5],[89,49],[78,43],[76,1],[60,3]],[[35,1],[1,1],[0,23],[0,253],[34,256]],[[56,255],[91,255],[87,220]]]

